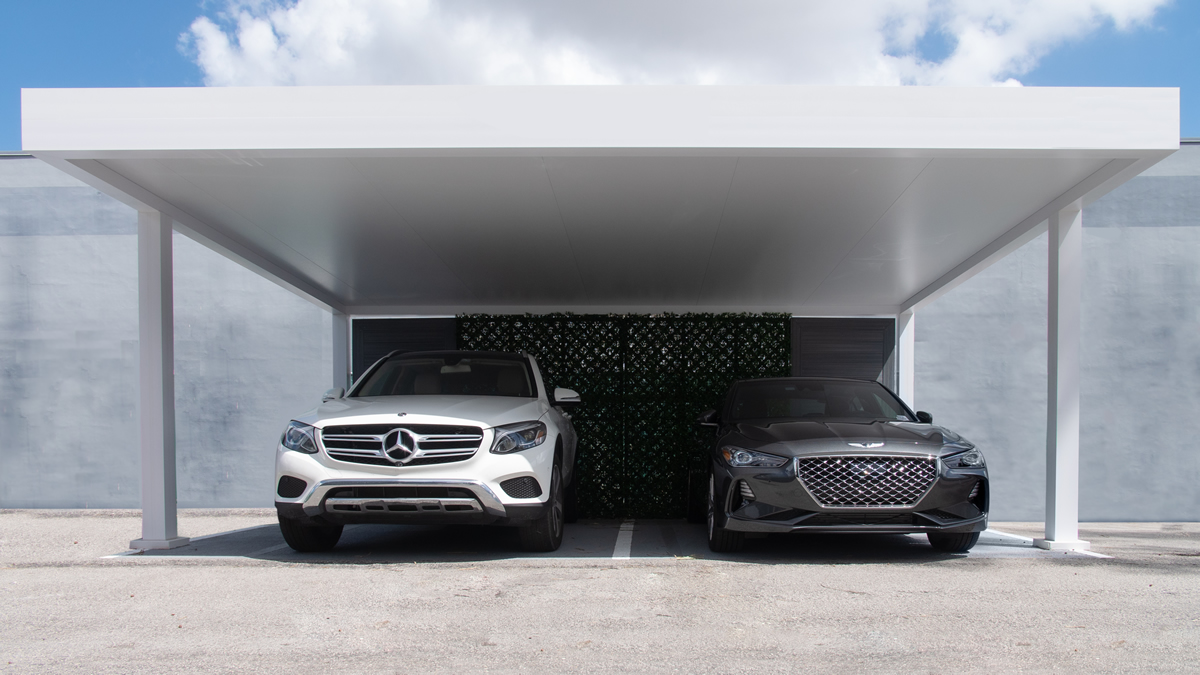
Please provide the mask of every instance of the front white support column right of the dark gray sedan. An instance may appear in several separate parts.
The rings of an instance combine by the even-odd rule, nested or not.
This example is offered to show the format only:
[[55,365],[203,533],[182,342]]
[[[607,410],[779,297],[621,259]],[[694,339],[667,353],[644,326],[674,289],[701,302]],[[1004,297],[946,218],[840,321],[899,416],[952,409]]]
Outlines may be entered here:
[[1079,342],[1084,298],[1080,204],[1050,216],[1046,362],[1046,536],[1050,550],[1087,549],[1079,539]]

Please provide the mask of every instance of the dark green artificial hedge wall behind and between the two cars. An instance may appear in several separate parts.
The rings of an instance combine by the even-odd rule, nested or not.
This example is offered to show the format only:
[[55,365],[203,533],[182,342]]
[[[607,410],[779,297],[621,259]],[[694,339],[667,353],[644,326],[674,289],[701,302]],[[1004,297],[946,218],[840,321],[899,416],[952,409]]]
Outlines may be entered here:
[[728,386],[791,372],[791,322],[775,313],[464,315],[458,348],[527,352],[575,389],[580,514],[682,518],[689,464],[710,432],[696,417]]

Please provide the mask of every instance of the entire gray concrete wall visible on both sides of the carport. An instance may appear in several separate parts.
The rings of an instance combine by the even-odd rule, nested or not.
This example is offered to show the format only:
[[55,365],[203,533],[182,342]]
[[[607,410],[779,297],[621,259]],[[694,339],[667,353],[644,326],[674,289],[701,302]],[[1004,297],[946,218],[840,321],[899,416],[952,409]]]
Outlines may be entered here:
[[[1200,520],[1200,147],[1084,214],[1085,520]],[[137,507],[136,214],[0,159],[0,507]],[[1046,244],[917,317],[917,405],[978,442],[996,519],[1045,491]],[[269,506],[329,386],[324,311],[175,237],[180,506]]]

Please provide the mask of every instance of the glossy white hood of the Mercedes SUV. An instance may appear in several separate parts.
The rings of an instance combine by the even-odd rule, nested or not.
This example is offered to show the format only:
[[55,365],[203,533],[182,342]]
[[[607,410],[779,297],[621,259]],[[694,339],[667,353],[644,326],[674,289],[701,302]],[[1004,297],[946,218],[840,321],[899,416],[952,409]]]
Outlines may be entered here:
[[398,420],[488,428],[539,419],[547,410],[539,399],[517,396],[364,396],[325,401],[298,419],[318,428]]

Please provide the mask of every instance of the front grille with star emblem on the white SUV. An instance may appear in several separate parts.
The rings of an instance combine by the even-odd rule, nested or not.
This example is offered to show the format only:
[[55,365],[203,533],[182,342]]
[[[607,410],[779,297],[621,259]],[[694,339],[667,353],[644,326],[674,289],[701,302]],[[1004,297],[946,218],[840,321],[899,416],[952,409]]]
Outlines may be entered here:
[[[394,434],[396,430],[401,434]],[[482,441],[482,429],[449,424],[340,424],[320,431],[330,458],[382,466],[462,461],[473,456]]]

